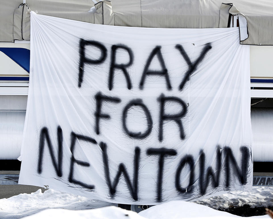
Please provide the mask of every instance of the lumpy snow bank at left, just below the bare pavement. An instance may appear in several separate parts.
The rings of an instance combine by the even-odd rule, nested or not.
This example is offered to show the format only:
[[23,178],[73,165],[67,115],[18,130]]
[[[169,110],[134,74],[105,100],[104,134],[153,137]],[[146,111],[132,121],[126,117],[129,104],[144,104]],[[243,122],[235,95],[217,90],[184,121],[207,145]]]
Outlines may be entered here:
[[0,199],[0,218],[22,218],[47,208],[84,210],[109,205],[114,204],[52,189],[42,193],[39,189],[31,194],[24,193]]

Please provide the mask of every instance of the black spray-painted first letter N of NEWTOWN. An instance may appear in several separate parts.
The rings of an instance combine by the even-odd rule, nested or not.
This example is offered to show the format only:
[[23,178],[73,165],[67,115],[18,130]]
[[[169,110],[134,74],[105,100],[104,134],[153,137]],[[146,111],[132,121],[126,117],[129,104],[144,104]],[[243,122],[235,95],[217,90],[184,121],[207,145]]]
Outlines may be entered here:
[[47,146],[49,149],[49,154],[53,163],[53,167],[58,175],[61,177],[62,174],[62,163],[63,163],[63,131],[60,126],[57,128],[57,138],[58,138],[58,164],[53,152],[53,146],[50,141],[47,127],[43,127],[40,132],[40,141],[39,141],[39,159],[38,159],[38,173],[42,173],[42,160],[44,154],[45,140],[47,141]]

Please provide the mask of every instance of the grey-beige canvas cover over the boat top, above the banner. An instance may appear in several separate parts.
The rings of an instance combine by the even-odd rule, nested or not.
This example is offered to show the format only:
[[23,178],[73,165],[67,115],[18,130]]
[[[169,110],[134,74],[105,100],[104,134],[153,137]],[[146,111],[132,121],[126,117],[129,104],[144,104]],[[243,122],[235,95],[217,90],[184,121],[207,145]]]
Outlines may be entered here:
[[[22,2],[0,1],[3,11],[0,14],[0,41],[12,42],[13,13]],[[90,8],[94,3],[90,0],[26,0],[26,3],[38,14],[116,26],[218,28],[228,26],[230,17],[227,15],[238,15],[239,20],[244,16],[247,27],[239,23],[245,26],[249,37],[241,44],[273,45],[271,0],[112,0],[97,3],[93,11]],[[20,26],[18,19],[14,22],[15,26]]]

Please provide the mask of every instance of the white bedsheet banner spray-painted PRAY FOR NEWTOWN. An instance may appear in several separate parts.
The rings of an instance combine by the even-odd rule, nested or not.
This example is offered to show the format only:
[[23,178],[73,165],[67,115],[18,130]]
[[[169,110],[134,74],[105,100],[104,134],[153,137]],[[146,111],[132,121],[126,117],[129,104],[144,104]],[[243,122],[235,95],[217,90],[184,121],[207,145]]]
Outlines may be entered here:
[[238,28],[31,13],[20,184],[156,204],[251,190],[249,46]]

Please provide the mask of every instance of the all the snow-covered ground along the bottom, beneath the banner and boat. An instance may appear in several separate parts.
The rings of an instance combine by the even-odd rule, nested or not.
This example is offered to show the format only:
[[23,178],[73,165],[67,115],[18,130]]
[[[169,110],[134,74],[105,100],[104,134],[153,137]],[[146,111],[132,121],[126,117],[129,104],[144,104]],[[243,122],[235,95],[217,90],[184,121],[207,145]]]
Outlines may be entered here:
[[[183,201],[167,202],[153,206],[145,211],[140,212],[139,214],[126,211],[115,206],[101,208],[114,205],[108,202],[92,200],[86,197],[76,196],[51,189],[46,190],[44,194],[41,192],[41,190],[38,190],[32,194],[19,194],[11,198],[0,199],[0,218],[234,218],[239,216],[214,210],[212,208],[228,208],[228,206],[242,206],[244,204],[249,204],[251,207],[272,206],[273,187],[257,186],[253,187],[253,190],[250,192],[243,192],[237,195],[224,194],[200,200],[195,203]],[[255,216],[251,218],[262,219],[268,218],[268,216]]]

